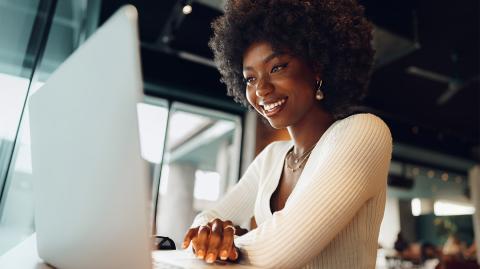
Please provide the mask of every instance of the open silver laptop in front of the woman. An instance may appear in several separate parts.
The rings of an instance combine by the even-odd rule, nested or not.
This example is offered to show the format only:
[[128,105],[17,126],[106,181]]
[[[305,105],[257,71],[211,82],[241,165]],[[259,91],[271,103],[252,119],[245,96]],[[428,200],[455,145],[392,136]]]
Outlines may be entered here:
[[[121,8],[29,99],[37,248],[52,266],[152,268],[137,27],[136,9]],[[217,267],[191,251],[153,257],[155,268]]]

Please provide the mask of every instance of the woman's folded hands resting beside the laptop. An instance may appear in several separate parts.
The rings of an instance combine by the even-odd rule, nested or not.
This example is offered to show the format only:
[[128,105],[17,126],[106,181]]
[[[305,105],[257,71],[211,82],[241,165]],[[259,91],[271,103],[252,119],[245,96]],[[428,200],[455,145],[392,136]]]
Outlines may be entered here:
[[236,261],[239,251],[235,247],[234,235],[247,233],[246,229],[234,227],[229,220],[214,219],[205,226],[191,228],[187,231],[182,248],[187,248],[192,242],[195,256],[213,263],[217,258],[221,260]]

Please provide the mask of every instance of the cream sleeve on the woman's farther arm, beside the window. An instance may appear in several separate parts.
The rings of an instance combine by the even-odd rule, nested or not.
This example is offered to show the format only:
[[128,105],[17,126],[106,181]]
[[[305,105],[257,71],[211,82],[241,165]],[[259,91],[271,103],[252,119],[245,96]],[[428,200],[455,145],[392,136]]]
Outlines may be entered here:
[[235,225],[248,221],[253,216],[255,199],[258,192],[261,162],[273,144],[267,146],[248,166],[239,182],[209,210],[198,214],[191,227],[205,225],[219,218],[231,220]]

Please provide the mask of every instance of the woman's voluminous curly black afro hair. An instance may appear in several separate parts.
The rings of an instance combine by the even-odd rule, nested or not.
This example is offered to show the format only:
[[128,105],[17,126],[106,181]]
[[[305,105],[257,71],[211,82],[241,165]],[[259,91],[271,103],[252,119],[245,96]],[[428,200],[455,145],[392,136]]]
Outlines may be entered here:
[[249,107],[242,74],[245,50],[268,42],[300,57],[323,80],[321,104],[342,118],[363,99],[371,75],[372,25],[355,0],[229,0],[212,23],[209,46],[227,94]]

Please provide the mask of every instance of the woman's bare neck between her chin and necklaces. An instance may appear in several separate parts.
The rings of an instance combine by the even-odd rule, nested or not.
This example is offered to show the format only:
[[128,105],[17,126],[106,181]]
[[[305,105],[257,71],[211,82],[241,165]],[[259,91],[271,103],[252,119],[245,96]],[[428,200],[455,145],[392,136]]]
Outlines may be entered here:
[[294,143],[294,154],[301,155],[311,149],[334,122],[330,113],[315,106],[295,125],[287,127]]

